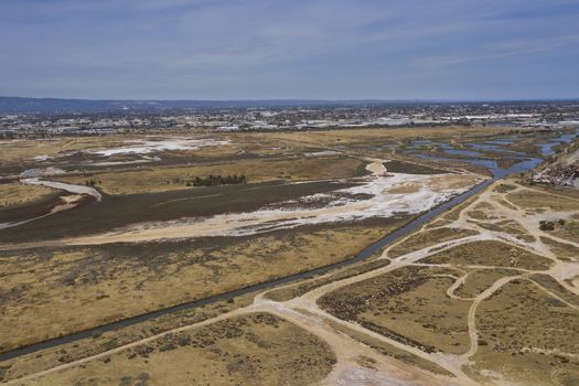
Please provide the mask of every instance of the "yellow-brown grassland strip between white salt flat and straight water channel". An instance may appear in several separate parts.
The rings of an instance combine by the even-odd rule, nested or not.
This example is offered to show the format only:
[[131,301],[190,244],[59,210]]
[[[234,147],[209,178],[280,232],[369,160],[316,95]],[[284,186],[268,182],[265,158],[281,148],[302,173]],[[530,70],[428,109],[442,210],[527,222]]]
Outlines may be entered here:
[[396,226],[3,251],[1,350],[341,261]]

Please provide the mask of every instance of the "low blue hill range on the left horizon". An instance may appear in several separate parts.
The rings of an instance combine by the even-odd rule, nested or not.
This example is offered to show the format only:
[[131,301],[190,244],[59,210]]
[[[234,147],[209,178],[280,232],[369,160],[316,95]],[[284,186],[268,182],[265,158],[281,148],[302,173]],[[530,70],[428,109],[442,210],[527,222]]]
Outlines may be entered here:
[[22,98],[0,96],[0,114],[15,112],[98,112],[98,111],[154,111],[248,107],[299,107],[299,106],[345,106],[380,104],[378,100],[115,100],[115,99],[60,99]]

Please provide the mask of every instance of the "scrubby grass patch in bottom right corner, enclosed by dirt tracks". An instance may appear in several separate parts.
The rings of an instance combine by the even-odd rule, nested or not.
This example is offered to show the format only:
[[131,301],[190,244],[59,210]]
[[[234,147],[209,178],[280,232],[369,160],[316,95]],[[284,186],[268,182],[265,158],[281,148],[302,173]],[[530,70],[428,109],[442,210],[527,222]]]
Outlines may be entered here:
[[[512,281],[478,310],[475,369],[508,374],[524,385],[572,385],[579,375],[579,311],[526,280]],[[484,379],[484,378],[481,378]]]

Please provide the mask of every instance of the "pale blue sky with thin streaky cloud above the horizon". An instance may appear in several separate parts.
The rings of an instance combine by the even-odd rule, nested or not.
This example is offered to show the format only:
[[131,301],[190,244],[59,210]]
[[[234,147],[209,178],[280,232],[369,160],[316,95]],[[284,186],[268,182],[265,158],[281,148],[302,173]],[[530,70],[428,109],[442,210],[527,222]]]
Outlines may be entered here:
[[0,36],[0,95],[579,97],[579,0],[18,0]]

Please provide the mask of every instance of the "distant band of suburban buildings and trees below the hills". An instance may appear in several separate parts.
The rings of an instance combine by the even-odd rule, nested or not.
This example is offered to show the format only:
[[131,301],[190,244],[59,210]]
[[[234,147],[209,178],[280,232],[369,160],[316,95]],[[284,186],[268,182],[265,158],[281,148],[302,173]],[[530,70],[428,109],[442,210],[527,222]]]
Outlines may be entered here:
[[147,129],[205,128],[218,131],[307,130],[419,125],[579,127],[579,103],[356,103],[328,106],[256,106],[157,110],[4,114],[0,137],[25,133],[100,135]]

